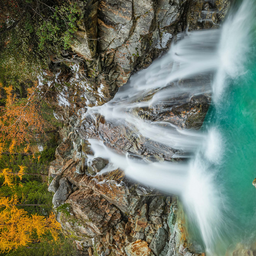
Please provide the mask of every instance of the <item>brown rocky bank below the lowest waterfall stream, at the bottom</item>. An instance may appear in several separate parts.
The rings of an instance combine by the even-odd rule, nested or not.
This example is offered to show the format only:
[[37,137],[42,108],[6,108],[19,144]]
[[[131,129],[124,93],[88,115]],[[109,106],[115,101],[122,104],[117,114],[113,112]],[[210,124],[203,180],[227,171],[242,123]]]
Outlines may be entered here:
[[[77,150],[81,147],[85,156],[92,154],[87,142],[79,140],[76,132],[66,140],[73,139],[81,141],[75,147]],[[77,173],[77,166],[83,166],[83,162],[74,160],[76,154],[71,149],[62,161],[54,181],[59,180],[60,186],[53,203],[58,206],[55,211],[63,233],[74,239],[81,250],[89,255],[97,252],[112,256],[166,256],[178,253],[182,245],[184,253],[180,254],[190,253],[181,220],[177,221],[177,205],[171,197],[134,185],[119,171],[95,177],[87,169]],[[98,161],[102,163],[105,159]]]

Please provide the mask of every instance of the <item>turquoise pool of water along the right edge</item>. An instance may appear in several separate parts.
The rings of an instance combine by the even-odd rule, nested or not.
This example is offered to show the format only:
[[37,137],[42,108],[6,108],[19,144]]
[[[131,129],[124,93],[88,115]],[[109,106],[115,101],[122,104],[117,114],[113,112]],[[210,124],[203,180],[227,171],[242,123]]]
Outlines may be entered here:
[[[221,161],[207,170],[214,173],[222,200],[222,220],[214,230],[219,237],[215,237],[213,251],[218,256],[225,255],[227,249],[234,250],[237,243],[250,249],[256,242],[256,189],[252,185],[256,178],[255,63],[250,60],[247,73],[228,83],[202,127],[206,132],[214,127],[221,135]],[[195,233],[198,231],[194,229]]]

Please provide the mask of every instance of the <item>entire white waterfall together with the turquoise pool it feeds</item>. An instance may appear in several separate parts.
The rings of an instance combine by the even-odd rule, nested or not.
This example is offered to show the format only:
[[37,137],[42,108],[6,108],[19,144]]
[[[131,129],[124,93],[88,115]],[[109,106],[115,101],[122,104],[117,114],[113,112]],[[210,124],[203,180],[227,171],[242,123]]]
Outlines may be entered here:
[[[256,77],[255,62],[246,63],[253,56],[254,10],[253,0],[245,0],[220,29],[178,35],[163,58],[132,76],[112,101],[85,114],[100,114],[138,135],[194,153],[185,163],[151,163],[116,154],[102,141],[90,140],[95,156],[113,164],[101,173],[120,167],[134,180],[178,195],[191,240],[202,238],[207,255],[224,255],[232,244],[256,238],[256,196],[251,185],[256,175]],[[184,94],[211,92],[213,104],[201,132],[143,121],[132,114],[135,108],[173,105]],[[197,233],[201,238],[193,236]]]

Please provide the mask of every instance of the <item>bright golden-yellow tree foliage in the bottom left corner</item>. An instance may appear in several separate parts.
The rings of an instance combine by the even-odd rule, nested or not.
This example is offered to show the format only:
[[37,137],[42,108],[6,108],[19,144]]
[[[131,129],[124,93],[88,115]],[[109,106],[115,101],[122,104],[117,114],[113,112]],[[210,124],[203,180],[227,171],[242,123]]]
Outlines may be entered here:
[[18,246],[26,246],[31,242],[38,242],[46,233],[51,233],[54,240],[58,239],[60,224],[55,215],[49,218],[31,214],[18,209],[17,198],[0,196],[0,252],[8,252]]

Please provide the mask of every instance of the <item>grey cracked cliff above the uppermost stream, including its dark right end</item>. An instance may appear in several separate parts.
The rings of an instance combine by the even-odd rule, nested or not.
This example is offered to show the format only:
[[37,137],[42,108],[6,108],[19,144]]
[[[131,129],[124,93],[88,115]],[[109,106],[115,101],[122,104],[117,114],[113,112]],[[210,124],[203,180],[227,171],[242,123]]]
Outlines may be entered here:
[[134,70],[146,68],[185,30],[217,28],[228,0],[90,0],[73,51],[84,59],[87,105],[112,99]]

